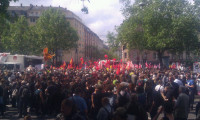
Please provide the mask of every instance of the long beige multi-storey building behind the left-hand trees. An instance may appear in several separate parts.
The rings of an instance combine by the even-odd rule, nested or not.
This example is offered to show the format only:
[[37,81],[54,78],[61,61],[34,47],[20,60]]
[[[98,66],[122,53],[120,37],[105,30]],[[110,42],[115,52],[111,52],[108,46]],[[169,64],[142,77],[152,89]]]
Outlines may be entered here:
[[104,47],[103,41],[90,30],[86,25],[83,24],[81,18],[75,15],[72,11],[67,10],[62,7],[52,7],[52,6],[10,6],[8,7],[8,13],[11,16],[25,16],[28,20],[29,25],[35,25],[37,19],[42,15],[42,12],[49,8],[55,8],[61,10],[66,20],[69,21],[70,25],[77,31],[79,40],[77,41],[77,48],[72,48],[68,51],[59,50],[58,60],[69,62],[73,58],[75,63],[80,62],[80,58],[83,57],[84,60],[94,59],[95,50],[101,50]]

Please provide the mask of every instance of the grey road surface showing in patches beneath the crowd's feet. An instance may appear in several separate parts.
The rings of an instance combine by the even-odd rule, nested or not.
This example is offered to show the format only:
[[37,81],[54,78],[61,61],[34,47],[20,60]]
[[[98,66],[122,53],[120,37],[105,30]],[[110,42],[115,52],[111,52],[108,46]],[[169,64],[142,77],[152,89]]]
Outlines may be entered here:
[[[195,104],[194,104],[194,109],[192,111],[190,111],[189,113],[189,117],[188,120],[195,120],[196,119],[196,115],[195,115],[195,107],[197,102],[200,101],[200,96],[196,96],[195,97]],[[162,115],[160,115],[162,116]],[[11,105],[7,106],[7,111],[5,113],[5,117],[1,118],[1,120],[23,120],[23,118],[17,118],[18,117],[18,113],[17,113],[17,109],[16,108],[12,108]],[[34,114],[31,114],[31,117],[33,120],[54,120],[55,117],[54,116],[45,116],[43,118],[37,117]]]

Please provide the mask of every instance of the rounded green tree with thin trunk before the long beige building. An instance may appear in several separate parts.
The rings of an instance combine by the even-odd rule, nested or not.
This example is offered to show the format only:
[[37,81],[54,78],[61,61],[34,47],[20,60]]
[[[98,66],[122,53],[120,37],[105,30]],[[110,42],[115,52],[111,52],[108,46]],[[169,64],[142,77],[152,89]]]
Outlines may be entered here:
[[77,32],[70,26],[62,11],[50,8],[43,12],[37,20],[35,33],[38,39],[38,49],[48,47],[52,53],[58,50],[69,50],[76,47]]

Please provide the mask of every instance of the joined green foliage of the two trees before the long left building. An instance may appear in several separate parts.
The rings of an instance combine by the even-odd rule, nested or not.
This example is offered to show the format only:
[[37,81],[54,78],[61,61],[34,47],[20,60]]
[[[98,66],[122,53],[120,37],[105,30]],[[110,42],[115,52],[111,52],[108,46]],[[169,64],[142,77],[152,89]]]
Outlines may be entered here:
[[[0,24],[7,23],[1,32],[1,50],[14,54],[41,54],[45,47],[50,52],[69,50],[76,47],[78,35],[70,26],[61,11],[46,10],[36,25],[29,26],[27,19],[20,16],[14,23],[1,19]],[[2,26],[0,26],[1,28]]]

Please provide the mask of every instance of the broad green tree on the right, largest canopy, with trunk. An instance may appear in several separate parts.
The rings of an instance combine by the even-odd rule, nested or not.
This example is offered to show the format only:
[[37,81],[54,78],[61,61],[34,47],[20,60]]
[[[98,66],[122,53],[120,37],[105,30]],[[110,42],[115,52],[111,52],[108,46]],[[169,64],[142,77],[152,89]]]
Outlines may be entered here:
[[157,51],[162,64],[165,51],[193,51],[196,48],[197,8],[186,0],[136,0],[123,10],[126,20],[119,27],[118,38],[129,48]]

